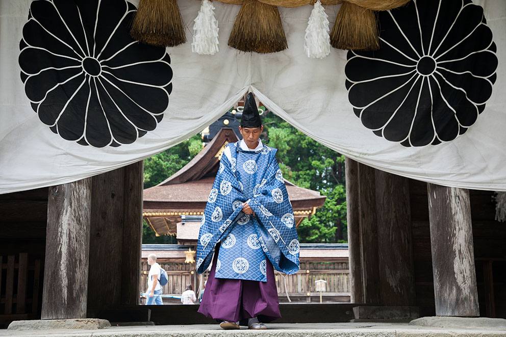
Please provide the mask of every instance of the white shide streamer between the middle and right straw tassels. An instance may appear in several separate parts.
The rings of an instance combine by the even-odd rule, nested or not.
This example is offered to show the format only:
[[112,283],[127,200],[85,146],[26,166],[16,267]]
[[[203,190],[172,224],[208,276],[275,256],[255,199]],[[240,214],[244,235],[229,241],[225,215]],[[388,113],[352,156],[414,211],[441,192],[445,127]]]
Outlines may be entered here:
[[304,50],[311,59],[323,59],[331,53],[331,39],[328,33],[328,15],[321,6],[320,0],[315,3],[311,11],[306,36],[304,37]]

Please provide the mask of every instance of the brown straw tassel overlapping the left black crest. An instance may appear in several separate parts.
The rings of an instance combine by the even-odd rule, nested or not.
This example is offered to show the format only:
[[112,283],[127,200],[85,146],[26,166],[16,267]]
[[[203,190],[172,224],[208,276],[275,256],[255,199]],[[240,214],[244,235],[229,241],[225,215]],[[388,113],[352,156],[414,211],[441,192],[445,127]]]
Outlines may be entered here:
[[173,47],[186,42],[183,18],[176,0],[141,0],[130,36],[139,42]]

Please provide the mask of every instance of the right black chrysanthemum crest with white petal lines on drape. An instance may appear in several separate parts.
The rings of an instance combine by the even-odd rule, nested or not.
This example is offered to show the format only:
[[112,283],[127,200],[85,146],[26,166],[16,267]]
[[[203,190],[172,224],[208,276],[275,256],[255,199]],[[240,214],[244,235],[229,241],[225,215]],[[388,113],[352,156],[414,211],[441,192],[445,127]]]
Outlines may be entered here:
[[348,99],[362,124],[404,146],[456,139],[485,109],[497,56],[483,8],[411,1],[380,12],[381,49],[349,51]]

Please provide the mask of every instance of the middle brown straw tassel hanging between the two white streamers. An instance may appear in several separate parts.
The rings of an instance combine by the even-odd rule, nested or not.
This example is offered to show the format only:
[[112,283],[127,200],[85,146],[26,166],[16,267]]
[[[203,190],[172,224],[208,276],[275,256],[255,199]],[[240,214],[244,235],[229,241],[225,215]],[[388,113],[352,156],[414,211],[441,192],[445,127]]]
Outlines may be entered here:
[[229,46],[242,51],[275,53],[288,47],[276,6],[244,0],[229,37]]

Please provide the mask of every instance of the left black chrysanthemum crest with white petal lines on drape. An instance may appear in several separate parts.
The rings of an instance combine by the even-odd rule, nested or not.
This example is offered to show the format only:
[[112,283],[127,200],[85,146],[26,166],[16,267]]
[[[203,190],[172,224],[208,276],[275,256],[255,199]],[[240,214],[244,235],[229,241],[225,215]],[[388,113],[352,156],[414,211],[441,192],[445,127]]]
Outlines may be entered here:
[[39,119],[62,138],[95,147],[131,144],[154,130],[172,90],[163,47],[129,35],[125,0],[35,0],[19,65]]

